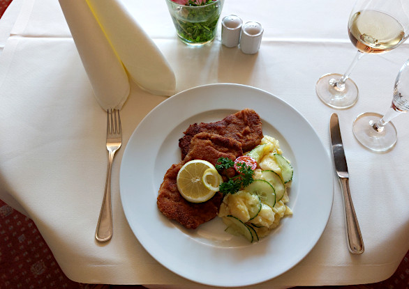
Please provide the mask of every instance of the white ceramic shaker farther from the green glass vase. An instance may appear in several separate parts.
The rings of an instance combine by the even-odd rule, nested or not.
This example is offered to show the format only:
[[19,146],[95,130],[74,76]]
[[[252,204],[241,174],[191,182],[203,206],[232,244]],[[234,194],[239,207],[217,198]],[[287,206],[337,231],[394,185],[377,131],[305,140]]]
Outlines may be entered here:
[[240,49],[245,54],[255,54],[260,49],[264,29],[258,22],[246,22],[241,27]]

